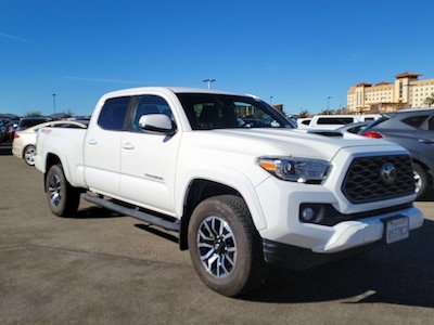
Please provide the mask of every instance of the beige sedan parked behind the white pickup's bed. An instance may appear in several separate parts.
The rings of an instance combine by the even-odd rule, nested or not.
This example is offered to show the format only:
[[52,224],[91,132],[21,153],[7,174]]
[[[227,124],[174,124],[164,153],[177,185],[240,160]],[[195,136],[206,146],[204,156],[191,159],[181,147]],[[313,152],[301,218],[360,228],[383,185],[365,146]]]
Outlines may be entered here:
[[55,120],[55,121],[39,123],[34,127],[29,127],[23,131],[16,131],[14,140],[12,142],[12,154],[20,159],[23,158],[27,165],[34,166],[37,133],[40,128],[44,127],[86,129],[87,125],[84,122],[72,121],[72,120]]

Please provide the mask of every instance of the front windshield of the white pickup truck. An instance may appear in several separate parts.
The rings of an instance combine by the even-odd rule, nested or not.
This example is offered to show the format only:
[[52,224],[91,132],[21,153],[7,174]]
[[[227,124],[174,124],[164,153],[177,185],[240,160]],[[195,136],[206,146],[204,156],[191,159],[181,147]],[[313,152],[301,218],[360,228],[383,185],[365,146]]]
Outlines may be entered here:
[[177,95],[193,130],[292,128],[280,112],[250,96],[214,93]]

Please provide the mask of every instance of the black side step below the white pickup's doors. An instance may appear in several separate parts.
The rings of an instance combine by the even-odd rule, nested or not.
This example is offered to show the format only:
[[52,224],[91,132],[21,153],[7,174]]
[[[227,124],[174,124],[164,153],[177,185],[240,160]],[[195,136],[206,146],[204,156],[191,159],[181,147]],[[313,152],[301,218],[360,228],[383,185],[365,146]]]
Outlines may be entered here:
[[154,224],[156,226],[163,227],[163,229],[168,230],[168,231],[174,231],[174,232],[178,232],[179,233],[179,230],[180,230],[180,226],[181,226],[181,223],[179,222],[179,220],[175,219],[174,221],[168,221],[168,220],[165,220],[163,218],[158,218],[156,216],[153,216],[153,214],[137,210],[135,208],[127,208],[127,207],[124,207],[122,205],[117,205],[117,204],[115,204],[113,202],[103,199],[101,197],[92,196],[92,195],[89,195],[89,194],[84,194],[82,198],[88,200],[88,202],[90,202],[90,203],[93,203],[95,205],[102,206],[102,207],[104,207],[104,208],[106,208],[108,210],[112,210],[112,211],[115,211],[115,212],[118,212],[118,213],[122,213],[122,214],[126,214],[126,216],[129,216],[129,217],[132,217],[132,218],[136,218],[136,219],[139,219],[139,220],[142,220],[144,222]]

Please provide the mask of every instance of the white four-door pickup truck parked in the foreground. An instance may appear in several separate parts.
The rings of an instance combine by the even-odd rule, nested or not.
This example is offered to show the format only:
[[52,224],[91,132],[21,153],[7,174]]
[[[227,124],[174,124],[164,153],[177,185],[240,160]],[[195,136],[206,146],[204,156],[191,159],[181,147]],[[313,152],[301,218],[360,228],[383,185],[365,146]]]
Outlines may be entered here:
[[267,265],[304,268],[423,224],[403,147],[293,129],[253,95],[136,88],[103,95],[87,129],[39,130],[54,214],[79,199],[179,233],[201,280],[238,296]]

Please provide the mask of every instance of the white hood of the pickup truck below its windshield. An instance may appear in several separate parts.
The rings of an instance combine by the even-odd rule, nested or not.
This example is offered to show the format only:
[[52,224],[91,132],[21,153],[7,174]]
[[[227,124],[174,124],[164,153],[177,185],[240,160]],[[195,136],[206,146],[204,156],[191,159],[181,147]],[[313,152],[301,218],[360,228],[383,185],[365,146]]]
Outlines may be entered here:
[[[200,134],[199,134],[200,133]],[[190,145],[197,150],[233,152],[253,156],[293,156],[331,161],[339,151],[373,146],[401,148],[380,139],[370,139],[336,131],[307,132],[298,129],[215,129],[186,132]],[[193,140],[194,139],[194,140]],[[194,143],[194,144],[193,144]]]

